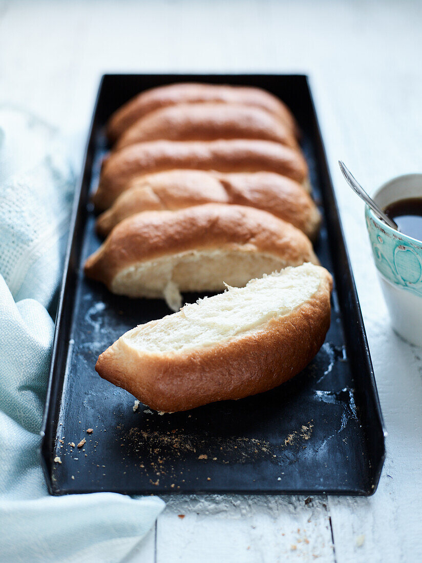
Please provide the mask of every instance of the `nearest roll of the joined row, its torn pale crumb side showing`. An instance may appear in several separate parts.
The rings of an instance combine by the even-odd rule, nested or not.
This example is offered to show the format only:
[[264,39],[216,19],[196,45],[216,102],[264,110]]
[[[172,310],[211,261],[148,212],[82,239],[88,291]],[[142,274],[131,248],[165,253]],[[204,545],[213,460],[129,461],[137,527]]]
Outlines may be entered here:
[[318,259],[293,225],[260,209],[209,203],[128,217],[88,258],[85,274],[113,293],[165,297],[177,310],[180,291],[220,291],[303,262]]

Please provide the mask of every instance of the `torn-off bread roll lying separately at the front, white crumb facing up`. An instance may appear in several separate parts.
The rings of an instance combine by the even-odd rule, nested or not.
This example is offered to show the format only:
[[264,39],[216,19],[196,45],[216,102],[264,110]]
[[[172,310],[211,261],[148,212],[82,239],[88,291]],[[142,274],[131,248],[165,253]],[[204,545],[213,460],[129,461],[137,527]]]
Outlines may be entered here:
[[299,373],[330,326],[331,275],[306,263],[139,325],[95,369],[153,409],[268,391]]

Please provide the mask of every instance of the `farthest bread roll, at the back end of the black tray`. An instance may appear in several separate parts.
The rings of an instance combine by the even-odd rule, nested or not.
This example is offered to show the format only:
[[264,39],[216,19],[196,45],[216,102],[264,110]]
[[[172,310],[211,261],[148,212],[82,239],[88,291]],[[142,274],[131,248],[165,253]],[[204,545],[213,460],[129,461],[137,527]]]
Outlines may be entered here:
[[108,137],[114,142],[122,133],[150,111],[176,104],[241,104],[268,111],[295,131],[296,123],[290,110],[281,100],[261,88],[249,86],[221,86],[217,84],[167,84],[141,92],[115,111],[109,119]]

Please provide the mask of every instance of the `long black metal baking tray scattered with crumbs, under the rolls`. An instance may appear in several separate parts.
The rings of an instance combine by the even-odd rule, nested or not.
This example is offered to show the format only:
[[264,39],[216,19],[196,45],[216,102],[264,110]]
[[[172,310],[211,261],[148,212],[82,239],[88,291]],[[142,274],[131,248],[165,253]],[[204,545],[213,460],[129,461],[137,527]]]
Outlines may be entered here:
[[[89,194],[108,148],[106,120],[137,92],[179,81],[259,86],[290,106],[323,214],[316,252],[334,275],[334,291],[325,343],[290,382],[247,399],[160,415],[142,404],[134,410],[134,397],[101,379],[94,366],[126,330],[170,311],[163,301],[114,296],[85,279],[82,268],[101,242]],[[185,294],[186,301],[197,297]],[[87,434],[88,428],[94,432]],[[306,76],[103,76],[75,194],[42,436],[43,467],[55,495],[374,493],[384,462],[384,423]]]

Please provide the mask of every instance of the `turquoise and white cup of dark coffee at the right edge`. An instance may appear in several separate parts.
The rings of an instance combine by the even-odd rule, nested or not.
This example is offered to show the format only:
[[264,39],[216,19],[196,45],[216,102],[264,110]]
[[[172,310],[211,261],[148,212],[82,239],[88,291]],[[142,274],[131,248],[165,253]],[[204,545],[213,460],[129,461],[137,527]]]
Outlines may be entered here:
[[[422,174],[398,176],[372,195],[381,208],[417,197],[422,197]],[[422,346],[422,242],[391,229],[367,206],[365,218],[393,328]]]

